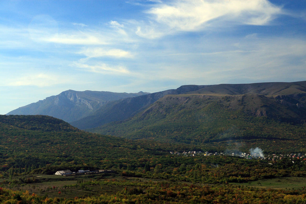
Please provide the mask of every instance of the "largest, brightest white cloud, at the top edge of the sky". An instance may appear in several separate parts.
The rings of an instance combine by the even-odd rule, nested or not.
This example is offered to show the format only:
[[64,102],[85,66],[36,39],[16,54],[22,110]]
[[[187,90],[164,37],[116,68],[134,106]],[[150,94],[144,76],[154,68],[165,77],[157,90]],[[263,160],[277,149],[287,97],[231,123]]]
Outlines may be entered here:
[[138,26],[136,34],[156,38],[178,31],[202,30],[225,22],[267,25],[282,13],[282,9],[267,0],[179,0],[160,3],[146,13],[154,21]]

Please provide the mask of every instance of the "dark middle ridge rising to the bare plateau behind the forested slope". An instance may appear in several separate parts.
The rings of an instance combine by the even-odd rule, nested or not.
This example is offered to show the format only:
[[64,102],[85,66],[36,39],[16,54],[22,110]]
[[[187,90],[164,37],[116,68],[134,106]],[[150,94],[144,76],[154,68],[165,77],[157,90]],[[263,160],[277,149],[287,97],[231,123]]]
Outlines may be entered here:
[[92,115],[77,121],[73,121],[70,124],[79,129],[91,129],[113,121],[125,120],[133,117],[141,111],[144,111],[148,106],[166,95],[217,94],[219,96],[225,96],[255,93],[268,96],[276,93],[286,93],[287,95],[291,94],[293,98],[299,98],[299,94],[303,95],[306,93],[304,90],[306,91],[306,81],[263,82],[252,84],[183,85],[177,89],[169,89],[161,92],[151,93],[145,96],[137,96],[132,99],[127,98],[120,101],[110,102],[107,104],[107,106],[100,108]]

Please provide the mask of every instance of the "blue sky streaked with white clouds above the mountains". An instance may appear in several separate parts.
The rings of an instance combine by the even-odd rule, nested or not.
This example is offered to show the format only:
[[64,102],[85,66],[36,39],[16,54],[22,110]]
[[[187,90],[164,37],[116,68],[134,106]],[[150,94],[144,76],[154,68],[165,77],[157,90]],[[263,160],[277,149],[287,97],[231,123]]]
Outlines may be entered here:
[[0,114],[68,89],[305,80],[305,0],[0,1]]

